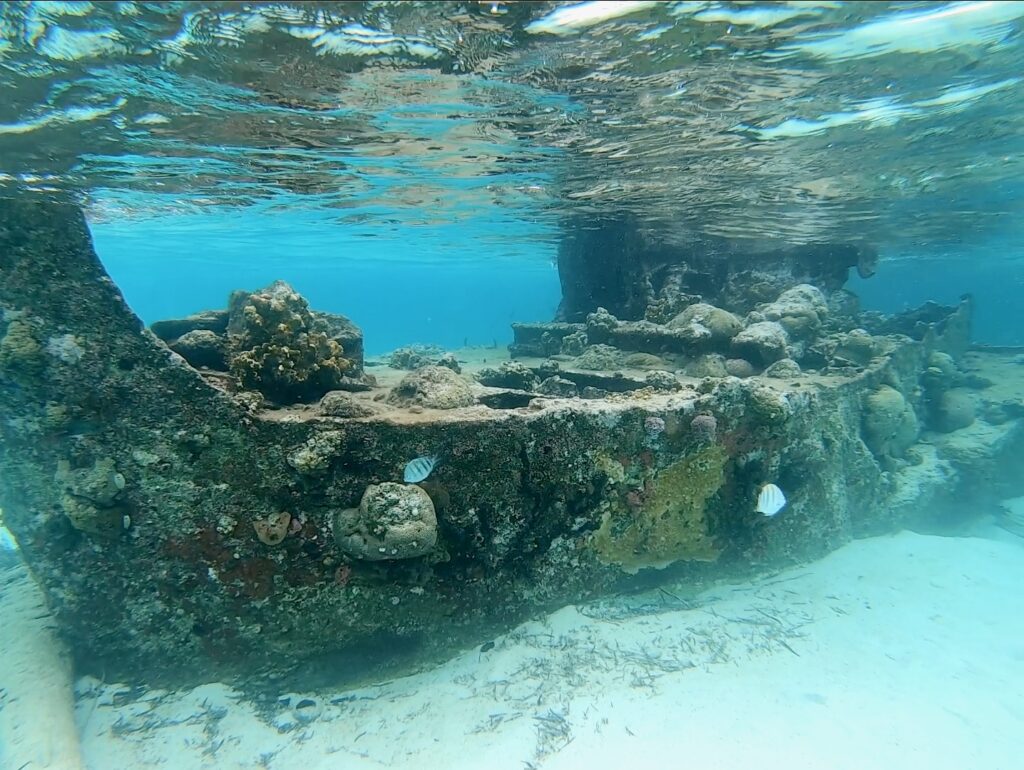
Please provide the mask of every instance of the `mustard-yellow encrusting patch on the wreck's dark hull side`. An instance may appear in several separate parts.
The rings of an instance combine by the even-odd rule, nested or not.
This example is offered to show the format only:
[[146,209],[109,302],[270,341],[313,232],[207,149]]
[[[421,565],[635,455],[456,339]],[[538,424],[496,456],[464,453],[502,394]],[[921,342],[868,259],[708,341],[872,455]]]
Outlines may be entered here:
[[626,493],[604,514],[592,545],[599,558],[635,573],[680,559],[715,561],[708,501],[725,483],[725,447],[714,444],[683,458]]

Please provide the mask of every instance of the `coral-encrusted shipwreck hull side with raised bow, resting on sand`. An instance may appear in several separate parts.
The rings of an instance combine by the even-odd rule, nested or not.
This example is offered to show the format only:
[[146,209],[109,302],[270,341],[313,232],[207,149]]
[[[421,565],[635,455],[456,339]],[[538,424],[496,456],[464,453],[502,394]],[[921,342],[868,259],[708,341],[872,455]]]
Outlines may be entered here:
[[[358,331],[287,285],[158,327],[165,343],[78,209],[4,202],[0,506],[85,670],[358,680],[637,581],[698,586],[898,526],[955,478],[919,420],[968,311],[918,340],[864,332],[859,366],[815,376],[542,360],[387,389]],[[403,483],[425,455],[434,473]],[[790,499],[771,519],[767,481]]]

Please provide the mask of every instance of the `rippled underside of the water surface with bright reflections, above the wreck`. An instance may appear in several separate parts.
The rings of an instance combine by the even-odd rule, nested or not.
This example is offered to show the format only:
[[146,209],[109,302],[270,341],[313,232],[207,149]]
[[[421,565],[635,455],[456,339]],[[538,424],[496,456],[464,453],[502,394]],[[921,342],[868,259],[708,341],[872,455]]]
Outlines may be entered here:
[[[684,240],[842,239],[869,220],[893,243],[983,226],[978,190],[1020,174],[943,181],[1020,141],[1002,116],[1022,3],[456,7],[7,4],[0,78],[19,95],[0,109],[0,173],[158,209],[281,198],[404,221],[483,196],[553,224],[629,210]],[[945,214],[878,205],[887,179],[925,173],[956,199]],[[808,193],[825,178],[845,183]]]

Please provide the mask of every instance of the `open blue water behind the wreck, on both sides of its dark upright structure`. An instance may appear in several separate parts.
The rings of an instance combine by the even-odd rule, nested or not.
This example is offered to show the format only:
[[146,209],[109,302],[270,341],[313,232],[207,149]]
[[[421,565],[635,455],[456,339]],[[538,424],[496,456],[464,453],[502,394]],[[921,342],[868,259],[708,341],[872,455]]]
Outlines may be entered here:
[[[349,227],[299,214],[202,214],[93,223],[96,251],[146,324],[226,305],[234,289],[288,281],[317,309],[343,313],[367,351],[433,343],[506,345],[512,322],[550,320],[560,298],[557,233],[541,224],[470,221]],[[1024,345],[1024,269],[1009,244],[936,256],[886,254],[848,288],[865,309],[898,312],[974,295],[974,339]]]

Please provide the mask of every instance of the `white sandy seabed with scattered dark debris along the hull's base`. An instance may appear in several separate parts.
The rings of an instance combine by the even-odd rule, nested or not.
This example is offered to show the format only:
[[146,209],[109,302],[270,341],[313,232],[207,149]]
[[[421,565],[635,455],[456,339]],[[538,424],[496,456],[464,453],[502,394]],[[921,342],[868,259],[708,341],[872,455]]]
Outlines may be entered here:
[[[719,588],[696,608],[655,596],[563,609],[488,652],[325,696],[318,719],[282,732],[221,685],[114,708],[119,688],[84,680],[86,761],[93,770],[1024,766],[1024,541],[902,533]],[[637,614],[643,602],[651,611]],[[279,724],[290,720],[283,708]]]

